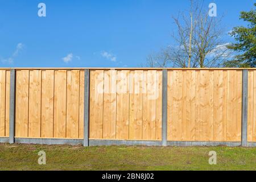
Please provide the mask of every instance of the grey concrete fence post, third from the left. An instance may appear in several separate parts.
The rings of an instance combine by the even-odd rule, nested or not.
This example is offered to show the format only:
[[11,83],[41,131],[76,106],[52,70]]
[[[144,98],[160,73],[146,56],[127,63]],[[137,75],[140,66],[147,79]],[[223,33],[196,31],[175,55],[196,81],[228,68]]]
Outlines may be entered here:
[[162,75],[162,146],[167,146],[167,69]]

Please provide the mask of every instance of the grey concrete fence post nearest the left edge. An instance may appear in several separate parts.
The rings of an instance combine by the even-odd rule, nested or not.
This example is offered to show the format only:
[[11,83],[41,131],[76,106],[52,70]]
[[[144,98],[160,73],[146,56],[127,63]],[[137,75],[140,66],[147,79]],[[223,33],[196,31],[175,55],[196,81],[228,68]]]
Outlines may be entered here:
[[15,132],[15,85],[16,74],[15,69],[11,69],[10,72],[10,121],[9,121],[9,143],[14,143]]

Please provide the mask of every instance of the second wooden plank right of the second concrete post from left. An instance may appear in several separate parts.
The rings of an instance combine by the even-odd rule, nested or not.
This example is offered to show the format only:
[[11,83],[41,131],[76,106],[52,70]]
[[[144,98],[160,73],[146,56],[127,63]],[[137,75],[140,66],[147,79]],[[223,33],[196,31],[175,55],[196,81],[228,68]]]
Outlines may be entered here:
[[104,71],[103,138],[115,139],[117,71]]

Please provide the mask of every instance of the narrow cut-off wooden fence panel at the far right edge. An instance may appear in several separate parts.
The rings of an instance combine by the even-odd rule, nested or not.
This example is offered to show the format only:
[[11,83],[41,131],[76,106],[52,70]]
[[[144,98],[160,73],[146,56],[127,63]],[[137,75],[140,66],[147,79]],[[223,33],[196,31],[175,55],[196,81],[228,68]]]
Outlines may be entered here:
[[248,72],[248,142],[256,142],[256,71]]

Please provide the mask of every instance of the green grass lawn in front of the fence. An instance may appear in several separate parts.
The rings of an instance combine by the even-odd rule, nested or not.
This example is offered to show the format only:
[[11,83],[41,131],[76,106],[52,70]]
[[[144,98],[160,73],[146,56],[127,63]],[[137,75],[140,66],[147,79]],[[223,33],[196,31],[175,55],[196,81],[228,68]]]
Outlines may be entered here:
[[[46,165],[38,164],[41,150]],[[0,144],[0,170],[256,170],[256,148]]]

